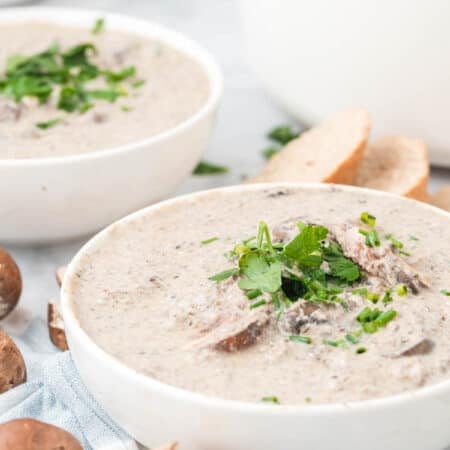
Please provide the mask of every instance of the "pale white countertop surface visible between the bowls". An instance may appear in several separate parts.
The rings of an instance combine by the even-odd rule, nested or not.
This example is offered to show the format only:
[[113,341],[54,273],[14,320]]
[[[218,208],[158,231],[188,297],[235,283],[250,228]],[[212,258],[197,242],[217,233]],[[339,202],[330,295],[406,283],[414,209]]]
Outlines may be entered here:
[[[231,168],[230,174],[186,180],[177,193],[238,183],[262,165],[265,134],[292,119],[264,93],[245,63],[239,15],[233,0],[47,0],[42,5],[119,11],[173,27],[196,39],[219,60],[225,95],[206,159]],[[450,183],[450,171],[433,169],[430,187]],[[51,218],[49,218],[51,220]],[[5,321],[7,329],[26,326],[33,316],[46,319],[47,301],[58,295],[55,268],[66,264],[83,240],[45,247],[9,247],[23,273],[20,307]]]

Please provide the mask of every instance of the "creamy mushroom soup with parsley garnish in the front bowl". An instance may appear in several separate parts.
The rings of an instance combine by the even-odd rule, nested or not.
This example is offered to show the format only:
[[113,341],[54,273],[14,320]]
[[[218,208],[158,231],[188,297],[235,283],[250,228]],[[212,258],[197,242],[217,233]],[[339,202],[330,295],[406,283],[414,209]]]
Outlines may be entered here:
[[65,286],[137,372],[249,402],[349,402],[450,372],[450,218],[364,190],[243,187],[112,226]]

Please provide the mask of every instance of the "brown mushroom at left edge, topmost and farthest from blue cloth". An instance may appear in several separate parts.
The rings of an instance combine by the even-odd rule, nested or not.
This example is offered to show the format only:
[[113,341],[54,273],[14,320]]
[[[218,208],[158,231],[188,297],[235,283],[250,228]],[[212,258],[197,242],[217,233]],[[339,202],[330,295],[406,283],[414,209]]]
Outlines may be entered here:
[[11,255],[0,247],[0,319],[17,305],[22,292],[20,270]]

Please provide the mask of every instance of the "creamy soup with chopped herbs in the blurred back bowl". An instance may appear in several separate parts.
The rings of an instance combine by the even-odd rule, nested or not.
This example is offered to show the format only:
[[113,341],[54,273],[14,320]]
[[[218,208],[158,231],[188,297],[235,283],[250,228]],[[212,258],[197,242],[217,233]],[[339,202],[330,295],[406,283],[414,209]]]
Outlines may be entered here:
[[144,139],[188,119],[209,95],[205,71],[188,55],[107,23],[0,25],[0,41],[0,159]]

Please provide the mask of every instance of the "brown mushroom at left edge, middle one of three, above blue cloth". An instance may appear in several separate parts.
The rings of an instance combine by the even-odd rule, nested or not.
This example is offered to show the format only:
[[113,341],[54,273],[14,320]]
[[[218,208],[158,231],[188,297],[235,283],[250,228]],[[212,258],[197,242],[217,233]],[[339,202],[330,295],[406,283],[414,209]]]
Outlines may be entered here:
[[27,370],[22,353],[14,341],[0,330],[0,394],[26,379]]

